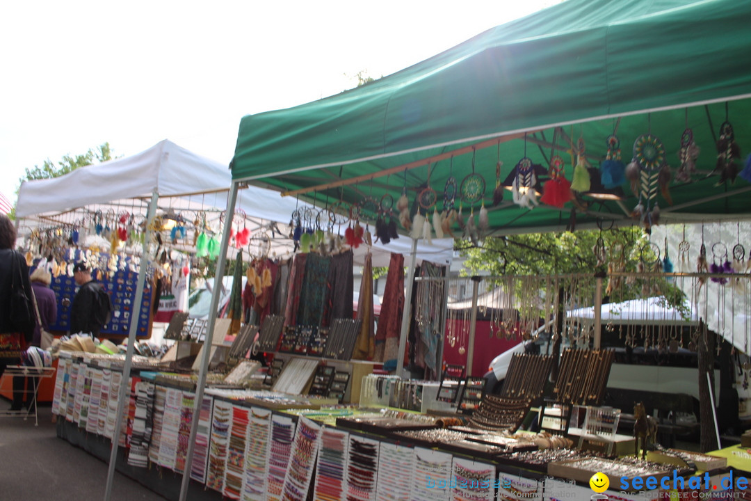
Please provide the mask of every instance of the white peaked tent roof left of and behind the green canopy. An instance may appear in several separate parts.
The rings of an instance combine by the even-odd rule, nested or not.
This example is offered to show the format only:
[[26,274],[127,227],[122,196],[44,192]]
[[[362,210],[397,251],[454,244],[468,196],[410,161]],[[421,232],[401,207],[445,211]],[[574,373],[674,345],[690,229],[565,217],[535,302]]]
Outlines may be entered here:
[[[136,155],[78,168],[54,179],[22,183],[16,215],[27,222],[43,219],[47,223],[70,223],[83,216],[80,213],[83,207],[89,214],[113,210],[145,215],[152,192],[156,190],[161,213],[208,211],[207,221],[219,231],[219,216],[227,207],[231,183],[227,166],[165,139]],[[276,229],[286,236],[291,214],[306,206],[295,198],[281,197],[279,192],[248,186],[238,191],[234,221],[245,224],[252,234],[258,230],[268,231],[274,222],[282,223]],[[238,213],[244,213],[246,222],[239,222]],[[373,266],[388,266],[391,252],[408,255],[411,245],[412,240],[407,237],[388,245],[375,243],[370,249]],[[281,256],[292,251],[293,243],[277,235],[273,246],[276,255]],[[451,239],[436,239],[433,244],[420,240],[418,258],[451,264],[453,247]],[[354,249],[355,263],[362,264],[367,251],[366,246]]]

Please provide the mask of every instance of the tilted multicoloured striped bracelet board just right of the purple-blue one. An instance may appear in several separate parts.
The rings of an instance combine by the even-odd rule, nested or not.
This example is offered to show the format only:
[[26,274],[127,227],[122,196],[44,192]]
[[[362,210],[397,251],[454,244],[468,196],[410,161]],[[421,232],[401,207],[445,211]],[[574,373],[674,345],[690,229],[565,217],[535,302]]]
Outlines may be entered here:
[[287,475],[282,487],[282,498],[285,501],[305,501],[308,488],[312,480],[313,466],[318,457],[321,426],[300,417],[297,420],[297,430],[290,454]]

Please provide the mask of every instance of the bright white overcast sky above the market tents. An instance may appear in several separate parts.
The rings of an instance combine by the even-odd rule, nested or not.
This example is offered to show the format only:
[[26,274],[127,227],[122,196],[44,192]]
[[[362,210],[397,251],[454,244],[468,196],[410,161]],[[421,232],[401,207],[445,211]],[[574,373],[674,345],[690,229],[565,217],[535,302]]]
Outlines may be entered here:
[[[5,2],[0,192],[25,168],[162,139],[229,163],[240,119],[354,87],[559,0]],[[54,196],[54,194],[50,194]]]

